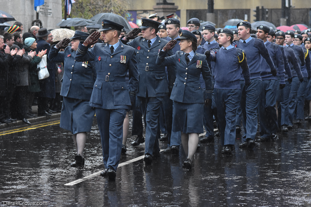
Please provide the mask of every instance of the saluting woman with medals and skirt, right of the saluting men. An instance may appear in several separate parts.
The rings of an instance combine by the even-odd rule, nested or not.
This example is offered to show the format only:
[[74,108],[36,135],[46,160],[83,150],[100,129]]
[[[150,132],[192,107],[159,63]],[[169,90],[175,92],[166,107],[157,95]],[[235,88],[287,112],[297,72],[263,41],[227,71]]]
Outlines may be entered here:
[[[180,40],[180,50],[175,55],[165,57],[167,51],[171,50],[177,40]],[[199,143],[199,133],[203,133],[203,104],[204,93],[206,93],[205,104],[211,101],[212,76],[207,65],[206,56],[195,52],[197,50],[197,37],[183,30],[180,38],[171,40],[160,51],[157,65],[174,65],[177,69],[177,77],[170,99],[174,101],[173,107],[173,131],[181,131],[183,149],[187,155],[183,167],[191,169],[194,153]],[[200,74],[205,81],[206,91],[202,90]]]

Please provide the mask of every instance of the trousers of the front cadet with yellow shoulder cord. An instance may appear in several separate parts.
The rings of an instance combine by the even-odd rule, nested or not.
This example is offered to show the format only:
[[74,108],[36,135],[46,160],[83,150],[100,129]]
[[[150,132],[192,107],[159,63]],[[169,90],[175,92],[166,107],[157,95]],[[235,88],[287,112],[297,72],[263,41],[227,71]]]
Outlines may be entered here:
[[241,89],[214,88],[214,93],[222,146],[234,145],[236,111],[240,105]]

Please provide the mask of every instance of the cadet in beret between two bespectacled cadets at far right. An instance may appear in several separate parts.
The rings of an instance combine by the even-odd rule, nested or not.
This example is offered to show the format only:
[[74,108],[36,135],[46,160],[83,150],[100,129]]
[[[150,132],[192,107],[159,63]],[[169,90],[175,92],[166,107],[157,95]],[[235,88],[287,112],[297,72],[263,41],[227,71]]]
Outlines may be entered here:
[[[285,47],[289,47],[290,49],[294,50],[294,53],[297,57],[298,64],[300,66],[301,73],[303,75],[303,79],[300,79],[300,82],[303,84],[306,84],[308,82],[308,73],[307,70],[303,70],[303,67],[305,65],[305,60],[304,60],[304,51],[302,50],[301,47],[294,45],[294,31],[288,30],[285,32]],[[294,124],[294,115],[295,115],[295,110],[297,106],[297,92],[299,89],[300,83],[297,81],[297,79],[293,79],[291,88],[290,88],[290,97],[289,97],[289,125],[288,129],[291,129],[293,124]]]

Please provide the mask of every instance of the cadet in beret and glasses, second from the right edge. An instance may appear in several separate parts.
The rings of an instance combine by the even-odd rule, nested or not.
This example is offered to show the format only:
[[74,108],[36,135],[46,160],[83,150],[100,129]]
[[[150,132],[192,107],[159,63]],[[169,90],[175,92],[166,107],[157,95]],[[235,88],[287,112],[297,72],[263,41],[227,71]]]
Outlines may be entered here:
[[[301,34],[295,34],[294,36],[294,45],[302,48],[304,52],[305,65],[300,67],[300,70],[304,76],[304,81],[300,83],[298,92],[297,92],[297,107],[296,107],[296,121],[294,124],[302,124],[302,120],[304,119],[304,93],[306,91],[308,80],[311,78],[311,65],[310,65],[310,54],[309,50],[307,50],[302,44],[302,36]],[[307,78],[307,80],[305,79]]]

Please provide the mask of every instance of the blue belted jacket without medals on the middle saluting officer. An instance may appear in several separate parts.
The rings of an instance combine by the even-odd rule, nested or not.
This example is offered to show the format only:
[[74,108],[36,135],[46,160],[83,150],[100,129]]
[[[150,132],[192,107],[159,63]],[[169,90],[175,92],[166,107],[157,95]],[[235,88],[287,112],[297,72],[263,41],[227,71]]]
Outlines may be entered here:
[[[156,59],[159,53],[159,48],[163,48],[168,41],[157,36],[156,41],[148,47],[147,40],[142,37],[137,37],[133,41],[127,43],[136,50],[137,69],[139,74],[139,84],[137,96],[160,97],[167,96],[169,86],[172,88],[176,78],[174,69],[168,68],[167,82],[165,66],[156,65]],[[166,56],[173,55],[172,51]]]

